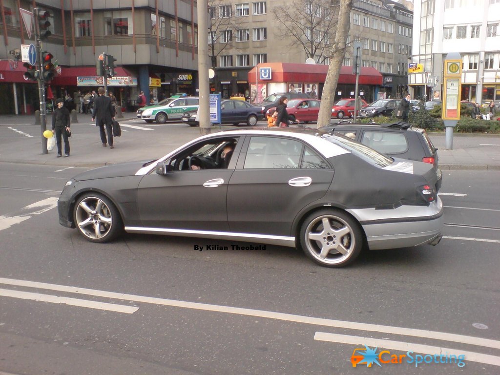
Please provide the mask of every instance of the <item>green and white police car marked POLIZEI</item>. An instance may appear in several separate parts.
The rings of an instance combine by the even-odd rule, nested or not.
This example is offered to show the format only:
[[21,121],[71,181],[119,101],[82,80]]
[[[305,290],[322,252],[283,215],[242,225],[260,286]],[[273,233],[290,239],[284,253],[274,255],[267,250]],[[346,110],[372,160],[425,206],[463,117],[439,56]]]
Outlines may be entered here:
[[179,98],[166,98],[158,104],[148,105],[137,110],[137,118],[146,122],[156,121],[165,123],[166,120],[180,119],[182,113],[191,109],[197,109],[199,98],[191,96],[182,96]]

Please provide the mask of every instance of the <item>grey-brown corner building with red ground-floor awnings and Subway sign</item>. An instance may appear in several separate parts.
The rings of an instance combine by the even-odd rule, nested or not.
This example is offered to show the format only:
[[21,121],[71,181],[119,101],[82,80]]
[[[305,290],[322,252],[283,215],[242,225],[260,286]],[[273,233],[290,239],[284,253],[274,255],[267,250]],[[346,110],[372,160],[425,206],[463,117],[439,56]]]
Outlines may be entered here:
[[[109,90],[121,106],[133,110],[144,91],[148,100],[160,93],[196,94],[197,27],[194,0],[1,0],[0,113],[30,112],[38,107],[36,82],[24,79],[21,44],[28,37],[19,8],[48,11],[51,35],[42,48],[54,55],[58,74],[49,82],[55,97],[102,85],[95,77],[99,54],[116,58],[117,76]],[[35,20],[37,22],[37,20]]]

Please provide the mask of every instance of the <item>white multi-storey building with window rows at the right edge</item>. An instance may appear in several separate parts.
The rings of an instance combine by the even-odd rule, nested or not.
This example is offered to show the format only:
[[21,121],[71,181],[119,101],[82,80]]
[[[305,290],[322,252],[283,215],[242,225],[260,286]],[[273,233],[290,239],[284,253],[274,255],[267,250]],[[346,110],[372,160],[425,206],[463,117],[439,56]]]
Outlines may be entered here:
[[423,72],[410,74],[417,94],[440,97],[443,60],[462,59],[461,100],[500,100],[500,0],[415,0],[411,61]]

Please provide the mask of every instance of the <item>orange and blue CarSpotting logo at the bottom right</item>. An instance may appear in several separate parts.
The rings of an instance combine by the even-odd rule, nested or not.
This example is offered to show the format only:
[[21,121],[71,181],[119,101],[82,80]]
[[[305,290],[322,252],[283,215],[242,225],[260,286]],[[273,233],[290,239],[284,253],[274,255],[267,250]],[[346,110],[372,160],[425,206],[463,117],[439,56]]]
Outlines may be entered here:
[[458,367],[463,367],[465,365],[465,354],[415,354],[413,351],[409,350],[405,354],[392,354],[389,350],[380,350],[377,353],[378,347],[370,348],[364,345],[364,347],[356,347],[352,351],[350,357],[350,362],[352,367],[356,367],[358,364],[365,364],[366,367],[371,367],[374,364],[382,367],[382,364],[394,365],[409,363],[414,364],[418,367],[421,363],[435,363],[439,365],[445,365],[450,363],[455,363]]

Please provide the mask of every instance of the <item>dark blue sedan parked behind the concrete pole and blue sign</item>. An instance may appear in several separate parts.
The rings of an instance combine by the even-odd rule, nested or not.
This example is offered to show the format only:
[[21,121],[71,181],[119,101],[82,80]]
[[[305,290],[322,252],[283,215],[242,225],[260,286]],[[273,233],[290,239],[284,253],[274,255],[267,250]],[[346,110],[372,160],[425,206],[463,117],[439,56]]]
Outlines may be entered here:
[[[184,112],[182,114],[182,121],[188,123],[190,126],[199,126],[199,122],[196,121],[197,112],[198,109]],[[257,121],[264,118],[264,115],[260,107],[251,105],[243,100],[229,99],[220,102],[220,118],[221,123],[239,125],[241,122],[244,122],[248,126],[255,126]]]

